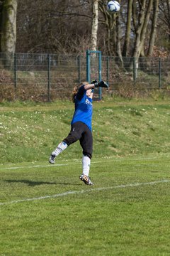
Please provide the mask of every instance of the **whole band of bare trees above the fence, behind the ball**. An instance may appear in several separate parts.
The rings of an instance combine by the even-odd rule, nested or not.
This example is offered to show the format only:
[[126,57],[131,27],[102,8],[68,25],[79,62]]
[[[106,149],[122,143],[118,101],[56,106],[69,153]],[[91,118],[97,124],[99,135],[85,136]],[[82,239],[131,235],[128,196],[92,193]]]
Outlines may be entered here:
[[140,57],[169,55],[170,1],[2,0],[1,52],[84,53]]

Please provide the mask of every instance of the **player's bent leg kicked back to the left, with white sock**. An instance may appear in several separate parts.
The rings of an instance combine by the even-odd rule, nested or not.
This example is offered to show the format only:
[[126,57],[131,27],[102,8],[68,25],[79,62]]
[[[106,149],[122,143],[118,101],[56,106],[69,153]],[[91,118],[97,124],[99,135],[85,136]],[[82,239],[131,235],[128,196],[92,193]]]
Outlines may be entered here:
[[79,122],[76,122],[72,125],[71,131],[69,132],[69,135],[63,139],[63,141],[58,144],[57,148],[52,151],[52,154],[50,155],[49,162],[50,164],[55,164],[55,157],[62,153],[65,149],[67,149],[67,146],[73,144],[74,142],[77,142],[81,138],[82,129]]

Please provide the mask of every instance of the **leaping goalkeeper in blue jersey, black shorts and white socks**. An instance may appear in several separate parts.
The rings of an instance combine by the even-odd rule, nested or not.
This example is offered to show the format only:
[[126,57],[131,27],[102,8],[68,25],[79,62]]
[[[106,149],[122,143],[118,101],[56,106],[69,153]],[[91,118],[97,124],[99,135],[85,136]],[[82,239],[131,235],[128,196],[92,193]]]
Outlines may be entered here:
[[91,84],[89,82],[83,82],[78,87],[74,87],[72,94],[72,100],[75,104],[75,111],[71,122],[71,131],[69,135],[63,139],[63,141],[52,151],[50,155],[50,164],[55,164],[55,157],[58,156],[67,146],[79,140],[83,149],[82,167],[83,173],[79,178],[84,181],[86,185],[94,185],[89,178],[91,156],[93,151],[93,137],[91,132],[91,120],[93,114],[92,98],[94,95],[94,88],[106,87],[106,82],[97,82],[93,80]]

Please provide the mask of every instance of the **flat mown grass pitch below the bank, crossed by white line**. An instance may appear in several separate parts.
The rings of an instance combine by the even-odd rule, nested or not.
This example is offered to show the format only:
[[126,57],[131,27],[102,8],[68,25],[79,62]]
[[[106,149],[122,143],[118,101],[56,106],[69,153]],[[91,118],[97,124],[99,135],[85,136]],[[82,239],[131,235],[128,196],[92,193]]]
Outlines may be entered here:
[[1,166],[0,255],[169,255],[169,156]]

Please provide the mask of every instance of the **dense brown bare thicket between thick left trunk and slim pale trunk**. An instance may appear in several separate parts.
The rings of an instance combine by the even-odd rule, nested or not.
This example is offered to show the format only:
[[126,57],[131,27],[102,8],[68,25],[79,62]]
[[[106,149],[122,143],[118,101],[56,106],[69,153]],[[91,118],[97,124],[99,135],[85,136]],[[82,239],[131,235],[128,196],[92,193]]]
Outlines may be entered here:
[[91,21],[86,0],[18,0],[17,50],[79,54],[90,48]]

